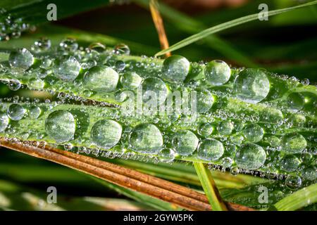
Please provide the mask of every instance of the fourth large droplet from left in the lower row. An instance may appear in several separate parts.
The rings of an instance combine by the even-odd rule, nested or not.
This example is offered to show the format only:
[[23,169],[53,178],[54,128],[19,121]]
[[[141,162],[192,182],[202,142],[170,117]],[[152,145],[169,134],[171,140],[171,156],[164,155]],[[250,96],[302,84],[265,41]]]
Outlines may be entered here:
[[173,146],[180,155],[191,155],[198,146],[199,140],[192,131],[179,131],[173,136]]

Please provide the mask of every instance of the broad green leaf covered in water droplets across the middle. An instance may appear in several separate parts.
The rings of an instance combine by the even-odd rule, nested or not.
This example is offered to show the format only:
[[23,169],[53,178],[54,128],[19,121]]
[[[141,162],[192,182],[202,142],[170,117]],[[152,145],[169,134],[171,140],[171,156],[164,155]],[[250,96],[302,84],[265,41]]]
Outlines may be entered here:
[[[135,60],[129,54],[124,44],[106,49],[96,43],[83,49],[74,39],[65,39],[54,48],[49,39],[39,39],[30,50],[12,51],[9,68],[1,65],[0,74],[12,73],[6,82],[13,91],[23,83],[29,89],[66,93],[59,96],[61,105],[65,98],[82,105],[85,98],[92,98],[91,105],[118,103],[125,99],[120,91],[140,86],[144,103],[149,100],[147,91],[160,94],[164,101],[171,91],[190,89],[197,92],[197,120],[190,122],[187,115],[123,117],[120,111],[110,116],[102,108],[92,112],[85,107],[80,109],[85,116],[79,116],[67,108],[48,112],[37,105],[12,103],[1,110],[0,132],[12,130],[11,122],[42,116],[41,131],[66,149],[84,145],[114,155],[139,153],[161,162],[197,158],[222,165],[232,174],[260,169],[316,179],[316,137],[297,132],[316,129],[313,117],[304,110],[313,96],[283,92],[274,85],[277,79],[302,87],[309,84],[307,80],[300,83],[261,69],[233,69],[221,60],[205,65],[171,56],[160,63],[145,56]],[[275,97],[279,101],[272,101]],[[291,127],[294,132],[284,134]],[[302,181],[287,176],[287,182],[294,186]]]

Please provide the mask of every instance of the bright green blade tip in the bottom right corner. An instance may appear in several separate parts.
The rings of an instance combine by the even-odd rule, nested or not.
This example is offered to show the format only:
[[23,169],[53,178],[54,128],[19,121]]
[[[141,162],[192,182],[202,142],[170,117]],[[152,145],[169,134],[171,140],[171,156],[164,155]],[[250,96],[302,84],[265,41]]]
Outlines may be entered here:
[[293,211],[313,203],[317,203],[317,184],[312,184],[288,195],[275,203],[274,207],[278,211]]

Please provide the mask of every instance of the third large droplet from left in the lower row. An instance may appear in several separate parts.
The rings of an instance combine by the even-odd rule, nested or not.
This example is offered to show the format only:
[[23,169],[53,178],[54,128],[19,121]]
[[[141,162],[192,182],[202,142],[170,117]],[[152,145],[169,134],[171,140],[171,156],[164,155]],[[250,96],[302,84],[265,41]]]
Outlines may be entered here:
[[132,150],[140,153],[157,154],[163,146],[163,136],[154,124],[139,124],[130,134]]

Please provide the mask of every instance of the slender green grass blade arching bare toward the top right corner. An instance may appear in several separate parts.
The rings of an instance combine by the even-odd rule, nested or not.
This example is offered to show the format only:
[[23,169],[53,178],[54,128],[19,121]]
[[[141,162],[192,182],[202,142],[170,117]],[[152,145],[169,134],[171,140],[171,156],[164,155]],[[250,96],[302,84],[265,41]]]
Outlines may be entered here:
[[[317,1],[311,1],[309,3],[301,4],[299,6],[293,6],[293,7],[289,7],[289,8],[281,8],[281,9],[277,9],[277,10],[273,10],[273,11],[268,11],[268,16],[278,15],[280,13],[285,13],[287,11],[292,11],[292,10],[297,9],[297,8],[311,6],[313,4],[317,4]],[[190,37],[187,37],[186,39],[183,39],[182,41],[179,41],[176,44],[173,44],[168,49],[164,49],[162,51],[159,51],[158,53],[156,53],[156,56],[161,56],[161,55],[163,55],[163,54],[165,54],[167,52],[175,51],[175,50],[180,49],[180,48],[182,48],[184,46],[192,44],[195,41],[198,41],[200,39],[204,39],[205,37],[208,37],[211,34],[214,34],[216,32],[220,32],[222,30],[229,29],[230,27],[235,27],[235,26],[241,25],[243,23],[247,23],[247,22],[250,22],[250,21],[253,21],[253,20],[257,20],[258,16],[259,16],[259,13],[254,13],[252,15],[247,15],[247,16],[244,16],[242,18],[238,18],[238,19],[235,19],[235,20],[230,20],[230,21],[228,21],[226,23],[222,23],[220,25],[216,25],[214,27],[210,27],[209,29],[203,30],[202,32],[194,34],[194,35],[192,35]]]

